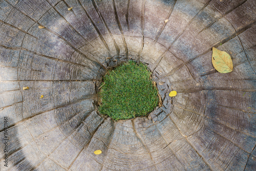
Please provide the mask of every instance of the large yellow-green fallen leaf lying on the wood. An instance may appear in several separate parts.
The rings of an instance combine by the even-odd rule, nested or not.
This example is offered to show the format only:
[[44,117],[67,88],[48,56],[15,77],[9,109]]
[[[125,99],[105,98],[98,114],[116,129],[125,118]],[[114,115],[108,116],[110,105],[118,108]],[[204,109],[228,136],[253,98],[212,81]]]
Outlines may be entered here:
[[229,73],[233,71],[232,59],[227,52],[212,47],[211,62],[214,68],[220,73]]

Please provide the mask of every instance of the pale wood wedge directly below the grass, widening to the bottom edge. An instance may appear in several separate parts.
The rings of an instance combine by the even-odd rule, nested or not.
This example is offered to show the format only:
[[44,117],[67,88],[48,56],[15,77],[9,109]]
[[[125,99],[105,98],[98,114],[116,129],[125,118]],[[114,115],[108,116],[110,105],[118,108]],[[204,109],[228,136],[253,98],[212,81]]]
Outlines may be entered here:
[[[153,164],[147,153],[146,147],[143,146],[143,142],[134,130],[132,121],[117,123],[106,154],[103,170],[145,169]],[[113,163],[113,161],[117,162]],[[129,164],[126,161],[129,161]]]

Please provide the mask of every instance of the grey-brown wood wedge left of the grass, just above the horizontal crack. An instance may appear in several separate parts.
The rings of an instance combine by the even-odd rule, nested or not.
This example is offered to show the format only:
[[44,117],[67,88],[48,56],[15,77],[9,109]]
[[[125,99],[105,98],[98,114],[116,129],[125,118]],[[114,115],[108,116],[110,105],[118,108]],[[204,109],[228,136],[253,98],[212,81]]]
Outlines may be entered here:
[[20,51],[18,61],[19,80],[90,80],[99,79],[99,67],[83,67],[75,63],[59,62],[50,58]]

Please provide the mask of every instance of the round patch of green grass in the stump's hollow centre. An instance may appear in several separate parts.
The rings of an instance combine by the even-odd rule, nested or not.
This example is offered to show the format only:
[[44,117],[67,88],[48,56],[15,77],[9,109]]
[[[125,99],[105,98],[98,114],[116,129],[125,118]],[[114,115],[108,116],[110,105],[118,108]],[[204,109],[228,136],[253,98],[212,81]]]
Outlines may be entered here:
[[119,120],[146,116],[153,111],[158,105],[158,91],[150,75],[145,65],[134,61],[109,71],[101,84],[99,112]]

